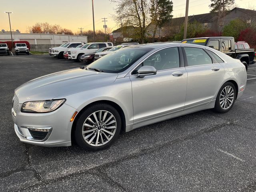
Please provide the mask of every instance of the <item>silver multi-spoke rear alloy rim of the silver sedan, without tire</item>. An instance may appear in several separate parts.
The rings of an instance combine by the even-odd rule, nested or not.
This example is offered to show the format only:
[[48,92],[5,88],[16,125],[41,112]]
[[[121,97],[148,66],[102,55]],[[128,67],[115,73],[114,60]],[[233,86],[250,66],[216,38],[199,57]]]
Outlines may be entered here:
[[231,86],[226,86],[220,93],[220,107],[227,110],[234,102],[234,89]]

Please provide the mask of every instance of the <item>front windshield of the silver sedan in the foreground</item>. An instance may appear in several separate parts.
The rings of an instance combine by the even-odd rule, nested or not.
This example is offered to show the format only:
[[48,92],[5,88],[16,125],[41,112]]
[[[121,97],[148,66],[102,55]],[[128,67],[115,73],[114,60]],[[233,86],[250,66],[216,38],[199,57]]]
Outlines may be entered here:
[[95,68],[106,73],[120,73],[151,50],[153,48],[120,49],[94,61],[87,68]]

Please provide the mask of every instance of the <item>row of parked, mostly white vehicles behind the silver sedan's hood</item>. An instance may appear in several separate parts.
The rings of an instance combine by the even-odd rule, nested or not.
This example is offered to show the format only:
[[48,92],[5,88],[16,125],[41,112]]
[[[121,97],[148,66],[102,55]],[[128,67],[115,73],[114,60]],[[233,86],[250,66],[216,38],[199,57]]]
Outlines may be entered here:
[[136,44],[139,43],[123,43],[118,46],[113,46],[111,42],[93,42],[86,44],[72,42],[62,44],[59,47],[49,48],[49,54],[59,59],[64,58],[90,64],[106,54]]

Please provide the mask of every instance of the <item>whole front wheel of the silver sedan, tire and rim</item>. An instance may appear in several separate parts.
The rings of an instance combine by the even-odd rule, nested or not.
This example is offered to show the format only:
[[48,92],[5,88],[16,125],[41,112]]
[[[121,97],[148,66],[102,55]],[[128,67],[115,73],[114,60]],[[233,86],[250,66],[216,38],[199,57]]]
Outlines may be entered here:
[[75,139],[90,151],[108,148],[120,134],[121,118],[111,105],[99,103],[88,107],[76,121]]

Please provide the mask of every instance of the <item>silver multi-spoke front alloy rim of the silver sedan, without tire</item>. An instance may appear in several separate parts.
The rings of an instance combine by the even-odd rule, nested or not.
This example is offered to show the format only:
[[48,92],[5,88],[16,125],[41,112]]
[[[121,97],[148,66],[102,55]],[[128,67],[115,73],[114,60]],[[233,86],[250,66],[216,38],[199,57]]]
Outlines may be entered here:
[[82,135],[91,146],[102,146],[109,142],[116,132],[116,118],[106,110],[90,114],[84,121]]

